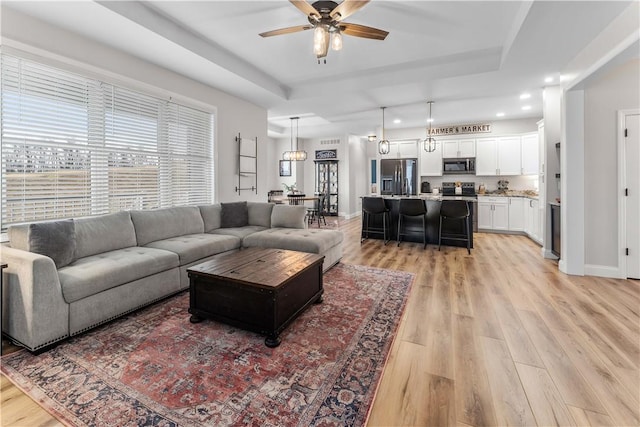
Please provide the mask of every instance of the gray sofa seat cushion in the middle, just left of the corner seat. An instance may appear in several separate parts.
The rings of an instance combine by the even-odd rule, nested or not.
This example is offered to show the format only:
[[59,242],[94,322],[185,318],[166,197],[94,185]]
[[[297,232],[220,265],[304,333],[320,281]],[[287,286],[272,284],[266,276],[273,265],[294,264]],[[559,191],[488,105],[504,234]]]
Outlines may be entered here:
[[240,238],[216,234],[187,234],[149,243],[146,247],[175,252],[180,265],[206,258],[220,252],[238,249]]

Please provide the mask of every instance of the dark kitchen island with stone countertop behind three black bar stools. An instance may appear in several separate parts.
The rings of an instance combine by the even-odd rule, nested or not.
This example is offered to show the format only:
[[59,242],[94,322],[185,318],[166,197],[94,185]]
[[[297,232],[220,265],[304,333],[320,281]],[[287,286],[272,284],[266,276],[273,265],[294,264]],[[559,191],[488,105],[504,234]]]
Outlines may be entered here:
[[[398,236],[398,209],[400,207],[400,199],[422,199],[427,206],[427,243],[432,245],[438,244],[438,231],[440,227],[440,204],[443,200],[462,200],[469,203],[469,211],[471,217],[469,223],[473,224],[474,206],[477,199],[475,197],[465,196],[442,196],[422,194],[419,196],[379,196],[370,195],[367,197],[382,197],[387,208],[391,211],[391,226],[389,227],[389,236],[392,241],[397,240]],[[364,220],[364,219],[363,219]],[[371,217],[369,223],[370,229],[382,230],[382,215]],[[420,217],[402,219],[403,229],[407,235],[404,235],[402,241],[422,243],[422,219]],[[363,224],[364,225],[364,224]],[[444,234],[463,234],[462,221],[445,221],[443,224]],[[371,239],[382,239],[381,234],[371,234]],[[466,247],[465,242],[449,240],[442,238],[442,244],[447,246]],[[471,228],[471,247],[473,248],[473,227]]]

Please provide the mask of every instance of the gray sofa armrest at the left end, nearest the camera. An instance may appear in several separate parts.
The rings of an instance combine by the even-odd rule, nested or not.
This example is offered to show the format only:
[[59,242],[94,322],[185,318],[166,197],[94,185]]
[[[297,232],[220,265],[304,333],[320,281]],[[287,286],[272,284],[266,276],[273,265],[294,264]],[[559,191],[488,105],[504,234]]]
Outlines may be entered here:
[[4,270],[2,328],[35,351],[69,336],[69,304],[62,295],[58,271],[44,255],[0,247]]

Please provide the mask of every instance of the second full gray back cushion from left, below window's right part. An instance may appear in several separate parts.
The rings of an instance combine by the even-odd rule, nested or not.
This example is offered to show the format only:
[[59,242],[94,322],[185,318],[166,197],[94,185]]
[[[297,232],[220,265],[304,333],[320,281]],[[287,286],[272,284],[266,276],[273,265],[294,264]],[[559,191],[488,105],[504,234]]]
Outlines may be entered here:
[[197,206],[180,206],[131,211],[138,246],[156,240],[204,232],[204,221]]

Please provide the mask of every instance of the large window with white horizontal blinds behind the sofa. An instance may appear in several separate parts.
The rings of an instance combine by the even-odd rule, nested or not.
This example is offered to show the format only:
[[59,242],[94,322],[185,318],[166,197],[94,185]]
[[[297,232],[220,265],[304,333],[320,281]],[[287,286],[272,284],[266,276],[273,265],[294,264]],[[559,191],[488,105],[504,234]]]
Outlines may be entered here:
[[213,115],[3,54],[2,230],[211,203]]

